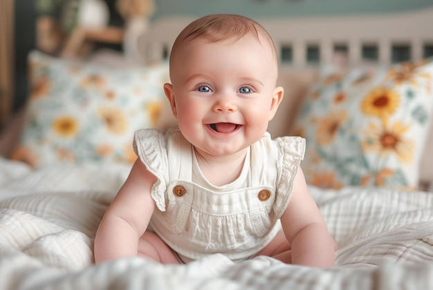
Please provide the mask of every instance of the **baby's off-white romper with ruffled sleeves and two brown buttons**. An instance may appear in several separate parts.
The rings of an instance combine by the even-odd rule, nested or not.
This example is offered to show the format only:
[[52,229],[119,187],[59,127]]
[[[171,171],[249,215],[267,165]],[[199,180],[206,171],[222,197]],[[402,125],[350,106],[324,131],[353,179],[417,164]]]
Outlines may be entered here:
[[264,249],[281,229],[305,139],[271,140],[266,133],[250,146],[237,180],[223,186],[206,180],[178,128],[136,131],[133,146],[157,178],[151,197],[158,209],[149,229],[183,261],[212,253],[241,261]]

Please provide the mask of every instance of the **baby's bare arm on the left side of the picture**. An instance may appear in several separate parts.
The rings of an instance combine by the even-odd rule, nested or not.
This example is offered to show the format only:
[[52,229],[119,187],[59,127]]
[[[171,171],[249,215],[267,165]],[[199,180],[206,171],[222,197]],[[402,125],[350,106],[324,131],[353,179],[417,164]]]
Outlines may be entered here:
[[137,160],[125,184],[102,218],[95,237],[95,262],[137,255],[138,240],[145,233],[156,204],[150,196],[156,181]]

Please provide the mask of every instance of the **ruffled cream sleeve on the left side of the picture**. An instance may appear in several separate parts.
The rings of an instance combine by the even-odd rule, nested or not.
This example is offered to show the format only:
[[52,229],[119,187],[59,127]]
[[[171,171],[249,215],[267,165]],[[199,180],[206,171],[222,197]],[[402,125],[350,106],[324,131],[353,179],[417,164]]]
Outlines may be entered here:
[[133,138],[133,150],[145,164],[148,171],[156,177],[151,188],[151,197],[160,211],[165,211],[165,191],[169,182],[165,133],[154,129],[136,131]]

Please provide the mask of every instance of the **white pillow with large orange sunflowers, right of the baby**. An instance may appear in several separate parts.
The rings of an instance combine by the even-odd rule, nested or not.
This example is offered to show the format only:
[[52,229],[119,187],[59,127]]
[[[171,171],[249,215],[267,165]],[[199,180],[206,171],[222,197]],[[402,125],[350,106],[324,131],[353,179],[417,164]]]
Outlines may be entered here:
[[433,61],[321,72],[297,118],[302,168],[322,188],[414,189],[433,110]]

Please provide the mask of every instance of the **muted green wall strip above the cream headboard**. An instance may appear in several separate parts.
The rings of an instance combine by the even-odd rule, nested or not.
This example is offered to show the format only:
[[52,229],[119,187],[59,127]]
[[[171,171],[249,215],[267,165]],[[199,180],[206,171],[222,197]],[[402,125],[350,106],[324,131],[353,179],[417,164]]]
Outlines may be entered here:
[[212,13],[248,17],[303,17],[365,14],[422,9],[433,0],[155,0],[154,19],[173,15],[203,16]]

